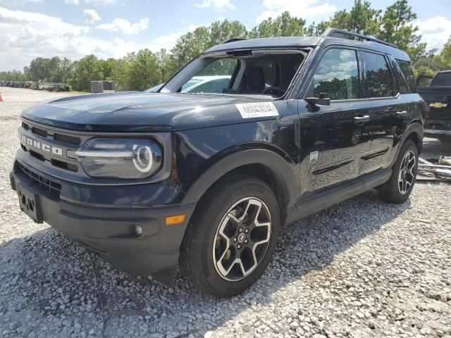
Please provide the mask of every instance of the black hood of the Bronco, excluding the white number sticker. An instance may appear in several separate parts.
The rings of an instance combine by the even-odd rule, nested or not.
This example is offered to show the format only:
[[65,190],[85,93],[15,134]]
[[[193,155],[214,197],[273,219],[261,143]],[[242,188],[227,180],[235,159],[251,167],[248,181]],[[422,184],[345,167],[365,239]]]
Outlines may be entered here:
[[235,104],[270,100],[265,96],[118,92],[63,97],[27,108],[22,116],[70,130],[164,132],[264,120],[244,120]]

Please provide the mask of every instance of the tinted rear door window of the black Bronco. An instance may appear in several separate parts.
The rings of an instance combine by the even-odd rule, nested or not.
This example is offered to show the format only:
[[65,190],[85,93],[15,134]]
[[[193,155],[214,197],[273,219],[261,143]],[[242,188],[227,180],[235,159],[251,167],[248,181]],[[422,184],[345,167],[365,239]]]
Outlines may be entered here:
[[366,97],[393,96],[393,80],[385,57],[366,53]]

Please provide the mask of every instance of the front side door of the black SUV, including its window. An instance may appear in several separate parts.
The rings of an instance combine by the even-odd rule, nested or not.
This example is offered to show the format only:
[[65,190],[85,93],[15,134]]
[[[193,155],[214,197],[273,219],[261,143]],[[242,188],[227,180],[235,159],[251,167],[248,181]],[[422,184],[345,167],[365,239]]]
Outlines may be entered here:
[[[357,51],[326,49],[305,97],[328,97],[330,106],[299,101],[304,190],[316,191],[359,176],[361,158],[369,154],[371,101],[362,100]],[[318,130],[314,142],[309,138]]]

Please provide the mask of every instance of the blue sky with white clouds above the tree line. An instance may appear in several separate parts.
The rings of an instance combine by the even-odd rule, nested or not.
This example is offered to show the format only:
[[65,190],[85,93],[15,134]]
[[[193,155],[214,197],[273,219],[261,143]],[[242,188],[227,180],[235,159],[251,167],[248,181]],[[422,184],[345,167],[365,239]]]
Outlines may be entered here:
[[[385,9],[395,0],[373,0]],[[0,71],[22,70],[38,56],[87,54],[121,58],[149,48],[168,50],[180,35],[216,20],[239,20],[249,29],[283,11],[307,24],[350,9],[354,0],[0,0]],[[409,0],[428,48],[451,35],[451,0]]]

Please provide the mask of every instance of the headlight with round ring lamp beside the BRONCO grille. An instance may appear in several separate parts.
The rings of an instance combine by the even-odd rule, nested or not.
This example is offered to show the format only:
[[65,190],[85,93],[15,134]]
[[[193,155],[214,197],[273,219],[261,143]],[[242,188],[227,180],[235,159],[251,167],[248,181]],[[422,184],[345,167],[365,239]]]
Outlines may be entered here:
[[163,161],[160,147],[149,139],[90,139],[75,156],[92,177],[148,177]]

